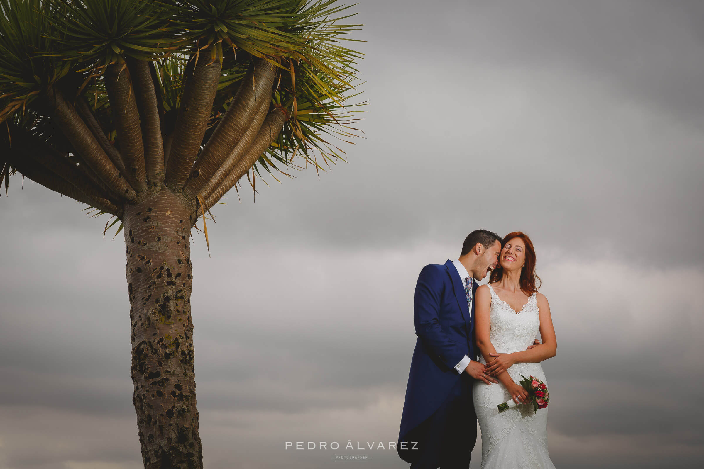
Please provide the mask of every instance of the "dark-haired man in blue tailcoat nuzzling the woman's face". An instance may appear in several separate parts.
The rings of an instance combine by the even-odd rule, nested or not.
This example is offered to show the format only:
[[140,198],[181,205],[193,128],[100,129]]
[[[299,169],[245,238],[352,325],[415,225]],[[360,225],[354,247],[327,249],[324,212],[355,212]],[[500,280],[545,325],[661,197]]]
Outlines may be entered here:
[[413,351],[396,450],[410,469],[467,469],[477,441],[473,380],[498,383],[475,361],[474,292],[498,264],[501,238],[467,236],[459,259],[429,264],[415,285]]

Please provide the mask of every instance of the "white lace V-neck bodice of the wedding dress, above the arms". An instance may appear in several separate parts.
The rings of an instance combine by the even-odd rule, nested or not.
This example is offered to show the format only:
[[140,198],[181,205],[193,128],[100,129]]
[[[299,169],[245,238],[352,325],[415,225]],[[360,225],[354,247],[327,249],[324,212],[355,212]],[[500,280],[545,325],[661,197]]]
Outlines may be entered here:
[[488,286],[491,291],[489,339],[496,352],[513,353],[527,349],[540,329],[538,294],[533,293],[523,309],[516,313],[507,302],[498,297],[491,285]]

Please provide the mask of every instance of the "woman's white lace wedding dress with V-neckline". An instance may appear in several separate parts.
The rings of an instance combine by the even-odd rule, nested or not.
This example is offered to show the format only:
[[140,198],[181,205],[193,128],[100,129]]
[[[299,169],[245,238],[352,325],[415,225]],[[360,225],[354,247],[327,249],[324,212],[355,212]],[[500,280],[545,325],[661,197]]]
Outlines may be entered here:
[[[537,293],[533,293],[523,309],[516,313],[507,302],[491,290],[491,344],[497,353],[522,352],[533,343],[540,328]],[[484,357],[479,361],[486,364]],[[543,383],[543,367],[539,363],[517,363],[508,368],[515,383],[535,376]],[[519,404],[498,412],[498,404],[511,399],[501,383],[491,386],[481,380],[473,385],[474,410],[482,429],[482,469],[554,469],[550,461],[546,432],[548,408],[533,410],[532,405]],[[549,405],[548,405],[549,407]]]

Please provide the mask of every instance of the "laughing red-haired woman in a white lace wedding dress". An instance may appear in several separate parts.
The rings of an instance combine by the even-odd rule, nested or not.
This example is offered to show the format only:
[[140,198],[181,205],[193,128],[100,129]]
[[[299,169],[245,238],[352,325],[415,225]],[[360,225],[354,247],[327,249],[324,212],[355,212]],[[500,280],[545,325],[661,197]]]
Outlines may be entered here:
[[[530,375],[548,385],[541,361],[555,356],[557,341],[548,300],[535,285],[535,250],[520,231],[503,238],[499,266],[488,285],[477,288],[474,333],[479,361],[501,383],[473,384],[474,410],[482,429],[482,469],[554,469],[548,454],[548,409],[519,405],[502,413],[497,406],[513,398],[527,402],[517,383]],[[532,345],[540,330],[542,344]],[[526,349],[528,347],[529,349]],[[548,390],[550,386],[548,385]]]

